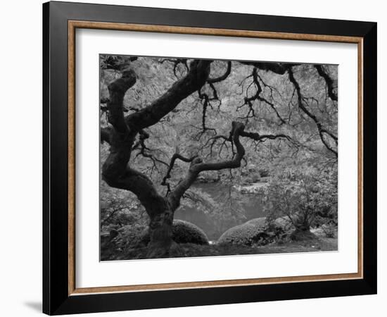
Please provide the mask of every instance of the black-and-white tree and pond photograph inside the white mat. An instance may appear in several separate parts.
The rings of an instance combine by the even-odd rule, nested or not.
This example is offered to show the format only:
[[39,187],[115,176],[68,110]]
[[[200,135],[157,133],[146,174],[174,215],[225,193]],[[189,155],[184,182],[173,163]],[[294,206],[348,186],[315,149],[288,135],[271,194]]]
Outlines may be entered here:
[[100,54],[100,260],[338,250],[338,66]]

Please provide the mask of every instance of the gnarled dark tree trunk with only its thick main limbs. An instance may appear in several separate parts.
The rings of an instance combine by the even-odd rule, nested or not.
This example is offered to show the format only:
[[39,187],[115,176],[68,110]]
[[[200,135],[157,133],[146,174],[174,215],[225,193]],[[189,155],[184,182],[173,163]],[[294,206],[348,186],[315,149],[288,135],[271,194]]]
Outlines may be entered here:
[[[248,137],[257,141],[265,139],[284,138],[290,140],[286,135],[259,135],[258,133],[245,132],[245,125],[238,122],[231,124],[231,131],[228,136],[217,135],[233,144],[233,157],[228,161],[215,163],[204,163],[198,156],[184,158],[180,154],[172,156],[167,175],[163,180],[163,185],[167,184],[170,172],[177,159],[191,162],[188,173],[184,180],[174,188],[168,185],[167,197],[160,195],[153,185],[153,182],[144,173],[134,170],[130,166],[132,149],[137,135],[144,140],[148,137],[144,129],[155,125],[161,118],[170,113],[176,106],[193,92],[199,91],[205,82],[217,82],[224,80],[231,70],[231,63],[227,63],[227,71],[224,75],[209,79],[211,61],[194,60],[191,62],[187,74],[182,79],[177,80],[170,89],[150,106],[124,116],[123,100],[125,93],[136,83],[136,74],[133,70],[125,70],[122,77],[108,85],[109,99],[107,100],[108,122],[111,126],[101,129],[101,141],[110,144],[108,158],[103,163],[102,177],[110,187],[125,189],[133,192],[141,204],[146,209],[150,218],[148,244],[148,257],[167,256],[170,247],[174,243],[172,240],[172,223],[176,209],[184,193],[194,183],[199,173],[205,170],[222,170],[225,168],[239,168],[241,160],[245,154],[239,138]],[[278,66],[274,70],[282,73],[283,66]],[[274,71],[273,70],[273,71]],[[236,151],[234,151],[234,148]]]

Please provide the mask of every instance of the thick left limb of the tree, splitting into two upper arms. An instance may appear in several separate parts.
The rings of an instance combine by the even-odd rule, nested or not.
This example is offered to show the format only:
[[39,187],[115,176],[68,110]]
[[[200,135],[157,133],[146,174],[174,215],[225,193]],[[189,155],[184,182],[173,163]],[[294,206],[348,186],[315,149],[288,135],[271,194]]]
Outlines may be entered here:
[[[146,175],[129,166],[134,140],[140,130],[158,123],[180,101],[204,85],[210,73],[210,63],[211,61],[194,60],[186,76],[177,80],[165,94],[150,106],[131,113],[126,118],[122,111],[123,99],[127,89],[135,84],[136,74],[133,70],[127,70],[122,73],[121,78],[108,86],[108,120],[113,125],[113,131],[110,135],[110,153],[103,163],[102,177],[110,187],[126,189],[136,194],[154,225],[163,227],[164,216],[160,214],[170,211],[170,206]],[[165,213],[165,217],[169,217],[169,214]],[[170,218],[165,219],[170,221],[167,220]]]

